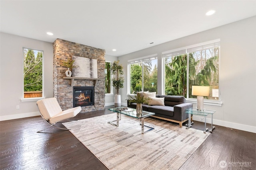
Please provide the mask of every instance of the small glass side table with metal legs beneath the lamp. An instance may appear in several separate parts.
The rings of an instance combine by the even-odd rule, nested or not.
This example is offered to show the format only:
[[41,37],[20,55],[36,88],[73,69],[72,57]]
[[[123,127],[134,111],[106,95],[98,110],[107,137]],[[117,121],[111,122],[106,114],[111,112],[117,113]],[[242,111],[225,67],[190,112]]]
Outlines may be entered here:
[[[208,131],[208,128],[206,128],[206,116],[211,114],[212,115],[212,119],[213,119],[213,114],[215,113],[215,110],[208,110],[208,109],[204,109],[204,110],[198,110],[196,108],[188,108],[186,109],[186,113],[188,113],[188,125],[186,127],[186,129],[190,128],[192,126],[192,124],[194,123],[193,121],[191,122],[191,115],[201,115],[204,116],[204,133],[206,133],[206,131]],[[210,133],[212,133],[213,129],[215,129],[215,126],[211,125],[211,129],[210,129]]]

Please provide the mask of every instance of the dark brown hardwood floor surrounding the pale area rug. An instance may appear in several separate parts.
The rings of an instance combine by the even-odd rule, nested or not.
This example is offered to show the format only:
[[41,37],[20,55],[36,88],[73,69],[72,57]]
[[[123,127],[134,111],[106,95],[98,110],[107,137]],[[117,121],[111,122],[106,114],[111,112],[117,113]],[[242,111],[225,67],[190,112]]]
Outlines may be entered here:
[[[79,113],[74,119],[110,113],[107,109]],[[57,124],[64,127],[61,123]],[[46,127],[48,123],[40,116],[0,121],[0,169],[108,169],[69,131],[50,127],[43,133],[36,133]],[[204,123],[195,121],[192,128],[203,130]],[[225,165],[226,168],[222,168]],[[180,169],[256,170],[256,133],[216,126]]]

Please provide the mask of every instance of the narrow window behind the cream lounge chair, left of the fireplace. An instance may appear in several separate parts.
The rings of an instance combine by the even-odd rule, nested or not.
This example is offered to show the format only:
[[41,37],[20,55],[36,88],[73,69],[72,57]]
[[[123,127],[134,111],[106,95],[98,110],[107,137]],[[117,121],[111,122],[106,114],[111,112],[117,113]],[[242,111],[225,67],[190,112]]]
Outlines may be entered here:
[[23,48],[23,98],[43,96],[43,51]]

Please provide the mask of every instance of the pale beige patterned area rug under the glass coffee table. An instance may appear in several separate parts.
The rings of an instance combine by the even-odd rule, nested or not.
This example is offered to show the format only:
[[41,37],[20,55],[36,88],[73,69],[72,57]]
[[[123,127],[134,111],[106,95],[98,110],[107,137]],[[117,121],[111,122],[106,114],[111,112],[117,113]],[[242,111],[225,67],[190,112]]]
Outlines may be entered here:
[[62,124],[110,170],[178,170],[210,135],[151,117],[144,124],[155,129],[142,134],[139,119],[113,120],[116,113]]

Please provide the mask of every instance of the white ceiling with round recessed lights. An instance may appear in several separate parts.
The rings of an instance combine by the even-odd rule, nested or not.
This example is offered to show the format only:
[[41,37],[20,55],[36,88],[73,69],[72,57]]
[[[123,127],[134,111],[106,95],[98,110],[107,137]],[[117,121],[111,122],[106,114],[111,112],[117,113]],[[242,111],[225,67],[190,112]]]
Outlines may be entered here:
[[[256,0],[1,0],[0,10],[1,32],[64,39],[118,57],[256,16]],[[206,16],[208,10],[216,13]]]

